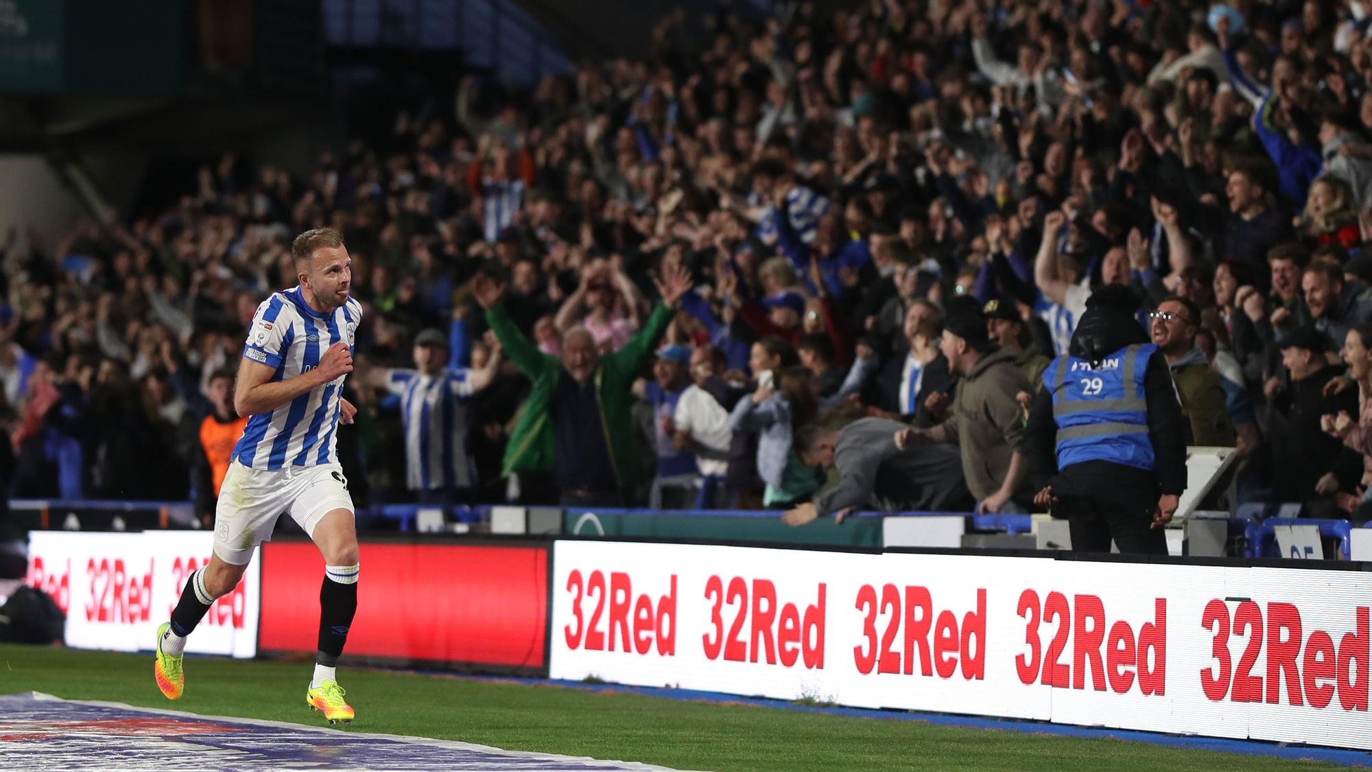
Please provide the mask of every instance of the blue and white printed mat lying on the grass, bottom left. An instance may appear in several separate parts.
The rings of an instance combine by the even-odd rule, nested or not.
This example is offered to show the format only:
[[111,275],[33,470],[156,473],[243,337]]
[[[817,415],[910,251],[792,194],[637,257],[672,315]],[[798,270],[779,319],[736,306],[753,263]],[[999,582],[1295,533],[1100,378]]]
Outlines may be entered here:
[[606,769],[661,771],[627,761],[343,732],[30,692],[0,696],[0,768],[7,769]]

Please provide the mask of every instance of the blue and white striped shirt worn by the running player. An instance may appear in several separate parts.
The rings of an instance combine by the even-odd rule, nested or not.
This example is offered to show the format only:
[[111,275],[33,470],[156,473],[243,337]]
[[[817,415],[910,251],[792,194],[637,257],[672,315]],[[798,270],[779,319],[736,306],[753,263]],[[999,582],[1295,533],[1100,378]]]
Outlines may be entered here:
[[[362,304],[353,298],[332,313],[318,313],[305,302],[300,287],[273,293],[252,317],[243,356],[276,368],[270,382],[277,383],[314,370],[324,352],[339,341],[347,342],[351,350],[361,320]],[[233,459],[255,470],[336,463],[343,378],[306,391],[270,413],[250,416],[243,438],[233,448]]]

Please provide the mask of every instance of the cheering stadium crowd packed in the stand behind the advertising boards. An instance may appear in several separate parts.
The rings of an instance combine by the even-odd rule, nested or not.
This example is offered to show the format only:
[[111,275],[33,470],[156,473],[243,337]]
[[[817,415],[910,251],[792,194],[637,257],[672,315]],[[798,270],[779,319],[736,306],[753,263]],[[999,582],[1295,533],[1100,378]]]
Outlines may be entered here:
[[704,40],[674,14],[652,58],[532,93],[464,78],[450,115],[309,176],[225,157],[156,216],[10,238],[11,492],[213,512],[254,309],[298,283],[291,238],[333,227],[366,308],[339,434],[359,504],[804,522],[881,493],[825,490],[844,435],[907,426],[932,442],[892,506],[1028,511],[1029,405],[1118,286],[1188,444],[1238,448],[1240,501],[1367,519],[1369,11],[722,5]]

